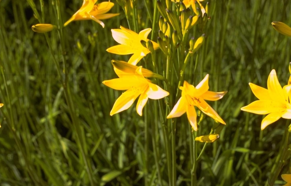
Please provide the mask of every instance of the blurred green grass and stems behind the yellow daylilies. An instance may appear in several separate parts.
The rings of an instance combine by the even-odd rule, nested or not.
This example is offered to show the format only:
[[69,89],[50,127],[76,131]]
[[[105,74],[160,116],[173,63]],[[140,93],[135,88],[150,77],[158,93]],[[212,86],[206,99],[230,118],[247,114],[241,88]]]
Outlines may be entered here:
[[[81,6],[81,1],[34,1],[46,23],[65,22]],[[99,1],[98,1],[99,2]],[[110,110],[121,91],[102,84],[117,77],[111,59],[127,61],[129,56],[110,54],[105,49],[116,45],[112,28],[128,27],[122,8],[115,3],[111,13],[120,16],[97,23],[77,21],[59,33],[48,33],[53,54],[44,34],[31,26],[38,23],[32,8],[24,0],[0,1],[0,185],[149,185],[157,184],[157,169],[151,139],[145,136],[145,124],[156,129],[156,141],[163,141],[157,102],[149,101],[143,117],[131,107],[113,117]],[[139,31],[151,27],[144,3],[138,1]],[[260,130],[264,116],[241,112],[255,101],[248,82],[266,87],[271,69],[282,85],[289,78],[290,38],[277,33],[272,21],[291,25],[290,3],[268,0],[210,1],[211,19],[206,41],[200,49],[196,82],[193,67],[185,79],[196,85],[210,74],[210,90],[228,90],[211,106],[226,121],[220,140],[206,146],[199,162],[199,185],[266,185],[282,150],[284,130],[290,124],[280,119]],[[59,10],[58,10],[59,7]],[[59,15],[58,15],[59,11]],[[151,33],[157,36],[156,33]],[[193,36],[199,37],[197,30]],[[156,37],[154,37],[156,38]],[[154,39],[156,41],[156,39]],[[63,45],[63,46],[62,46]],[[161,54],[162,52],[159,51]],[[195,55],[194,55],[195,57]],[[62,67],[73,105],[71,117],[64,87],[58,78],[54,58]],[[150,56],[140,64],[147,66]],[[159,58],[162,61],[163,58]],[[73,125],[73,120],[76,122]],[[200,128],[207,134],[213,120],[207,118]],[[177,121],[177,185],[190,182],[190,138],[186,115]],[[146,149],[144,144],[149,144]],[[199,145],[201,150],[203,143]],[[147,153],[145,153],[147,152]],[[158,146],[162,179],[167,183],[165,148]],[[289,160],[280,173],[288,173]],[[273,170],[272,170],[273,168]],[[275,185],[284,184],[280,177]],[[166,184],[165,184],[166,185]]]

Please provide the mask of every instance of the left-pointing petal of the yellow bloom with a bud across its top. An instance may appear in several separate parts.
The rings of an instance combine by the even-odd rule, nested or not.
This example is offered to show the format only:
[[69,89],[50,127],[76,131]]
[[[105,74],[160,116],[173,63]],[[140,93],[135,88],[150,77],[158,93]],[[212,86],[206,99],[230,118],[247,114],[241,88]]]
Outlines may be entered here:
[[104,85],[113,88],[115,90],[128,90],[133,86],[136,86],[140,83],[138,78],[132,76],[126,76],[122,78],[116,78],[111,80],[105,80],[102,82]]

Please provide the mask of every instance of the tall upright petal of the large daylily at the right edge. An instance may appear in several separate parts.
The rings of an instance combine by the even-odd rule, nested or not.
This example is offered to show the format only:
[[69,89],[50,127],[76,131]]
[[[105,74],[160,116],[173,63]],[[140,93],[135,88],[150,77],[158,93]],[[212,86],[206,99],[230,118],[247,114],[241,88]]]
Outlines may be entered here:
[[268,77],[268,91],[271,99],[278,102],[284,101],[284,94],[282,87],[278,81],[276,71],[273,69]]

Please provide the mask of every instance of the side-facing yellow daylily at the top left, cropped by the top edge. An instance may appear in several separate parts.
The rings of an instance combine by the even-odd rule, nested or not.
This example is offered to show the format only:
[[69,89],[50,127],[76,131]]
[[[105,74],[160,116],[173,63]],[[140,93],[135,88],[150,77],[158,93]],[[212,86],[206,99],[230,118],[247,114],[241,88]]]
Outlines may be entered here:
[[82,7],[65,22],[64,26],[67,26],[72,21],[92,19],[104,28],[105,25],[100,20],[119,15],[119,13],[107,13],[114,6],[114,3],[102,2],[95,4],[96,2],[97,0],[83,0]]

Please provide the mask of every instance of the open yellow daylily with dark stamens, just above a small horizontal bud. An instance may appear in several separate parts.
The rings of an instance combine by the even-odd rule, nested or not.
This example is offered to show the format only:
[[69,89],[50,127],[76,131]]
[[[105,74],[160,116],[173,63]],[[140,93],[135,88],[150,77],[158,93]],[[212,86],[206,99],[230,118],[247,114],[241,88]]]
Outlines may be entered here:
[[168,119],[179,117],[186,112],[190,125],[194,131],[197,131],[197,115],[194,108],[194,106],[196,106],[206,115],[225,125],[225,122],[220,118],[215,110],[213,110],[213,108],[211,108],[210,105],[206,103],[205,100],[219,100],[227,93],[227,91],[208,91],[208,77],[209,75],[207,74],[196,87],[184,81],[183,87],[179,87],[180,90],[182,90],[182,96],[174,106],[173,110],[167,116]]

